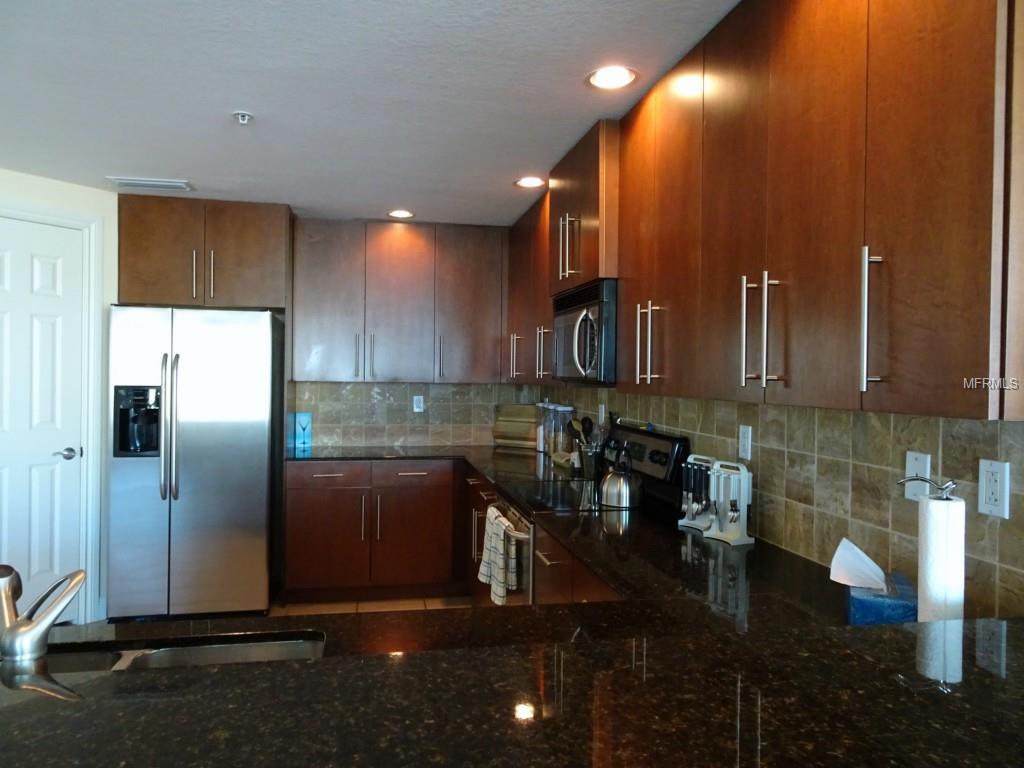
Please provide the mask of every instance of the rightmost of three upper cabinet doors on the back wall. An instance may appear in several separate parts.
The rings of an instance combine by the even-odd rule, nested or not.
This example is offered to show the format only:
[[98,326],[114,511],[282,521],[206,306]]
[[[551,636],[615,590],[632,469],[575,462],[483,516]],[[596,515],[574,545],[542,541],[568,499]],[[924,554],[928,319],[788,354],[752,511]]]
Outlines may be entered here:
[[504,230],[438,224],[436,238],[434,381],[498,382]]

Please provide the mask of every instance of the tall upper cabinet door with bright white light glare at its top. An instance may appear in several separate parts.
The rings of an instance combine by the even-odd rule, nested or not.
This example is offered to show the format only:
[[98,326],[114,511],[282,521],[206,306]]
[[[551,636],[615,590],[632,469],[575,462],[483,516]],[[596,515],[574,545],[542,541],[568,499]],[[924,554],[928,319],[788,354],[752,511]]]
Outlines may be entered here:
[[698,336],[705,325],[699,285],[703,45],[686,54],[656,87],[655,241],[651,304],[643,315],[643,368],[653,391],[689,394],[705,348]]

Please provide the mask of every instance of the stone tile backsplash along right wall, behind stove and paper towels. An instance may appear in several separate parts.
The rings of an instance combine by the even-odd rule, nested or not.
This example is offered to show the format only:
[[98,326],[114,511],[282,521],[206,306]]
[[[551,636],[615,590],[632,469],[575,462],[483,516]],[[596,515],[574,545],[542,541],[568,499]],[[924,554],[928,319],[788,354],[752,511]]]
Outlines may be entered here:
[[[755,535],[827,565],[843,537],[883,568],[916,580],[918,505],[903,498],[907,451],[932,456],[933,479],[959,481],[967,501],[969,615],[1024,615],[1024,423],[939,419],[544,387],[542,397],[690,438],[696,453],[738,460],[753,428]],[[978,459],[1011,463],[1009,520],[979,514]]]

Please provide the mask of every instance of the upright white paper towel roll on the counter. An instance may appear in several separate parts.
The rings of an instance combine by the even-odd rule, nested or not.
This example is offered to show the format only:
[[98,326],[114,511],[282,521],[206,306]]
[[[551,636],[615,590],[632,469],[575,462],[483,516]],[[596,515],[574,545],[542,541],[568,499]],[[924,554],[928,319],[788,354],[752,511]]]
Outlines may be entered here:
[[918,621],[964,617],[964,500],[918,504]]

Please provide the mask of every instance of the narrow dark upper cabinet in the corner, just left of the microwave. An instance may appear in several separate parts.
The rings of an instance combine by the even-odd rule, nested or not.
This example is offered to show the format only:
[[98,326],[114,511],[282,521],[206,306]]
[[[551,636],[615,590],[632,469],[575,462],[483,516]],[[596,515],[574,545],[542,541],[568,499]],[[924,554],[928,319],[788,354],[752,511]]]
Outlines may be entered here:
[[547,293],[547,268],[543,265],[537,271],[534,239],[546,200],[547,196],[535,203],[509,231],[508,319],[506,338],[502,340],[502,378],[514,384],[535,384],[538,379],[537,284],[541,283]]

